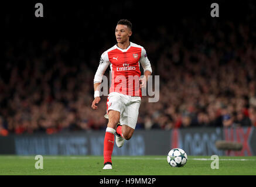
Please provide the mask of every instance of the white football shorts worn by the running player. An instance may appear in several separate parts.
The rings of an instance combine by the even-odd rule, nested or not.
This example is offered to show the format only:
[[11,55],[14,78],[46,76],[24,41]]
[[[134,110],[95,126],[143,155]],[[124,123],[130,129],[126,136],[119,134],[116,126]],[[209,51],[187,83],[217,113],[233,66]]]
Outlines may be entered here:
[[104,117],[108,119],[109,110],[118,111],[120,112],[121,125],[126,124],[132,129],[135,129],[140,105],[140,96],[129,96],[118,92],[111,92],[108,94],[107,114]]

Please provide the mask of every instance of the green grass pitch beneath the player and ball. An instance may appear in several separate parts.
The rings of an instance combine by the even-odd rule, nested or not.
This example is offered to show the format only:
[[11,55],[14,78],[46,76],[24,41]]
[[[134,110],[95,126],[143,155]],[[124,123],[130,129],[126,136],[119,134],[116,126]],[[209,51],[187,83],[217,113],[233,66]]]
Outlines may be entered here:
[[36,169],[35,155],[0,155],[0,175],[256,175],[256,157],[219,157],[211,169],[210,157],[188,156],[181,168],[172,168],[165,155],[113,156],[110,170],[103,170],[101,156],[43,156]]

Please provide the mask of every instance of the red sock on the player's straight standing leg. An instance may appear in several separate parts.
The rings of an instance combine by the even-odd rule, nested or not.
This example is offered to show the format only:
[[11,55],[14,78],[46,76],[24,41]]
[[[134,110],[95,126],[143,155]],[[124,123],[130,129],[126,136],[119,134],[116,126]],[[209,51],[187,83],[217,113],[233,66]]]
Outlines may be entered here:
[[114,148],[114,140],[115,140],[114,134],[106,131],[105,138],[104,138],[104,151],[103,151],[104,163],[105,162],[112,163],[111,155]]

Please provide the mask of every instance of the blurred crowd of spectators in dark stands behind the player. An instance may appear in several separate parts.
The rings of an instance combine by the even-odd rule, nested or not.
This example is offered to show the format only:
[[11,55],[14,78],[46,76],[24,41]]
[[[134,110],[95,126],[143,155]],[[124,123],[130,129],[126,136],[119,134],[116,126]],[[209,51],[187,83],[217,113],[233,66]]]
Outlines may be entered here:
[[[136,30],[131,41],[145,47],[152,75],[160,75],[159,101],[142,98],[136,129],[256,126],[254,23],[251,14],[244,22],[186,18],[153,33]],[[76,39],[4,42],[1,135],[105,129],[107,97],[91,109],[93,79],[114,37],[97,51]]]

